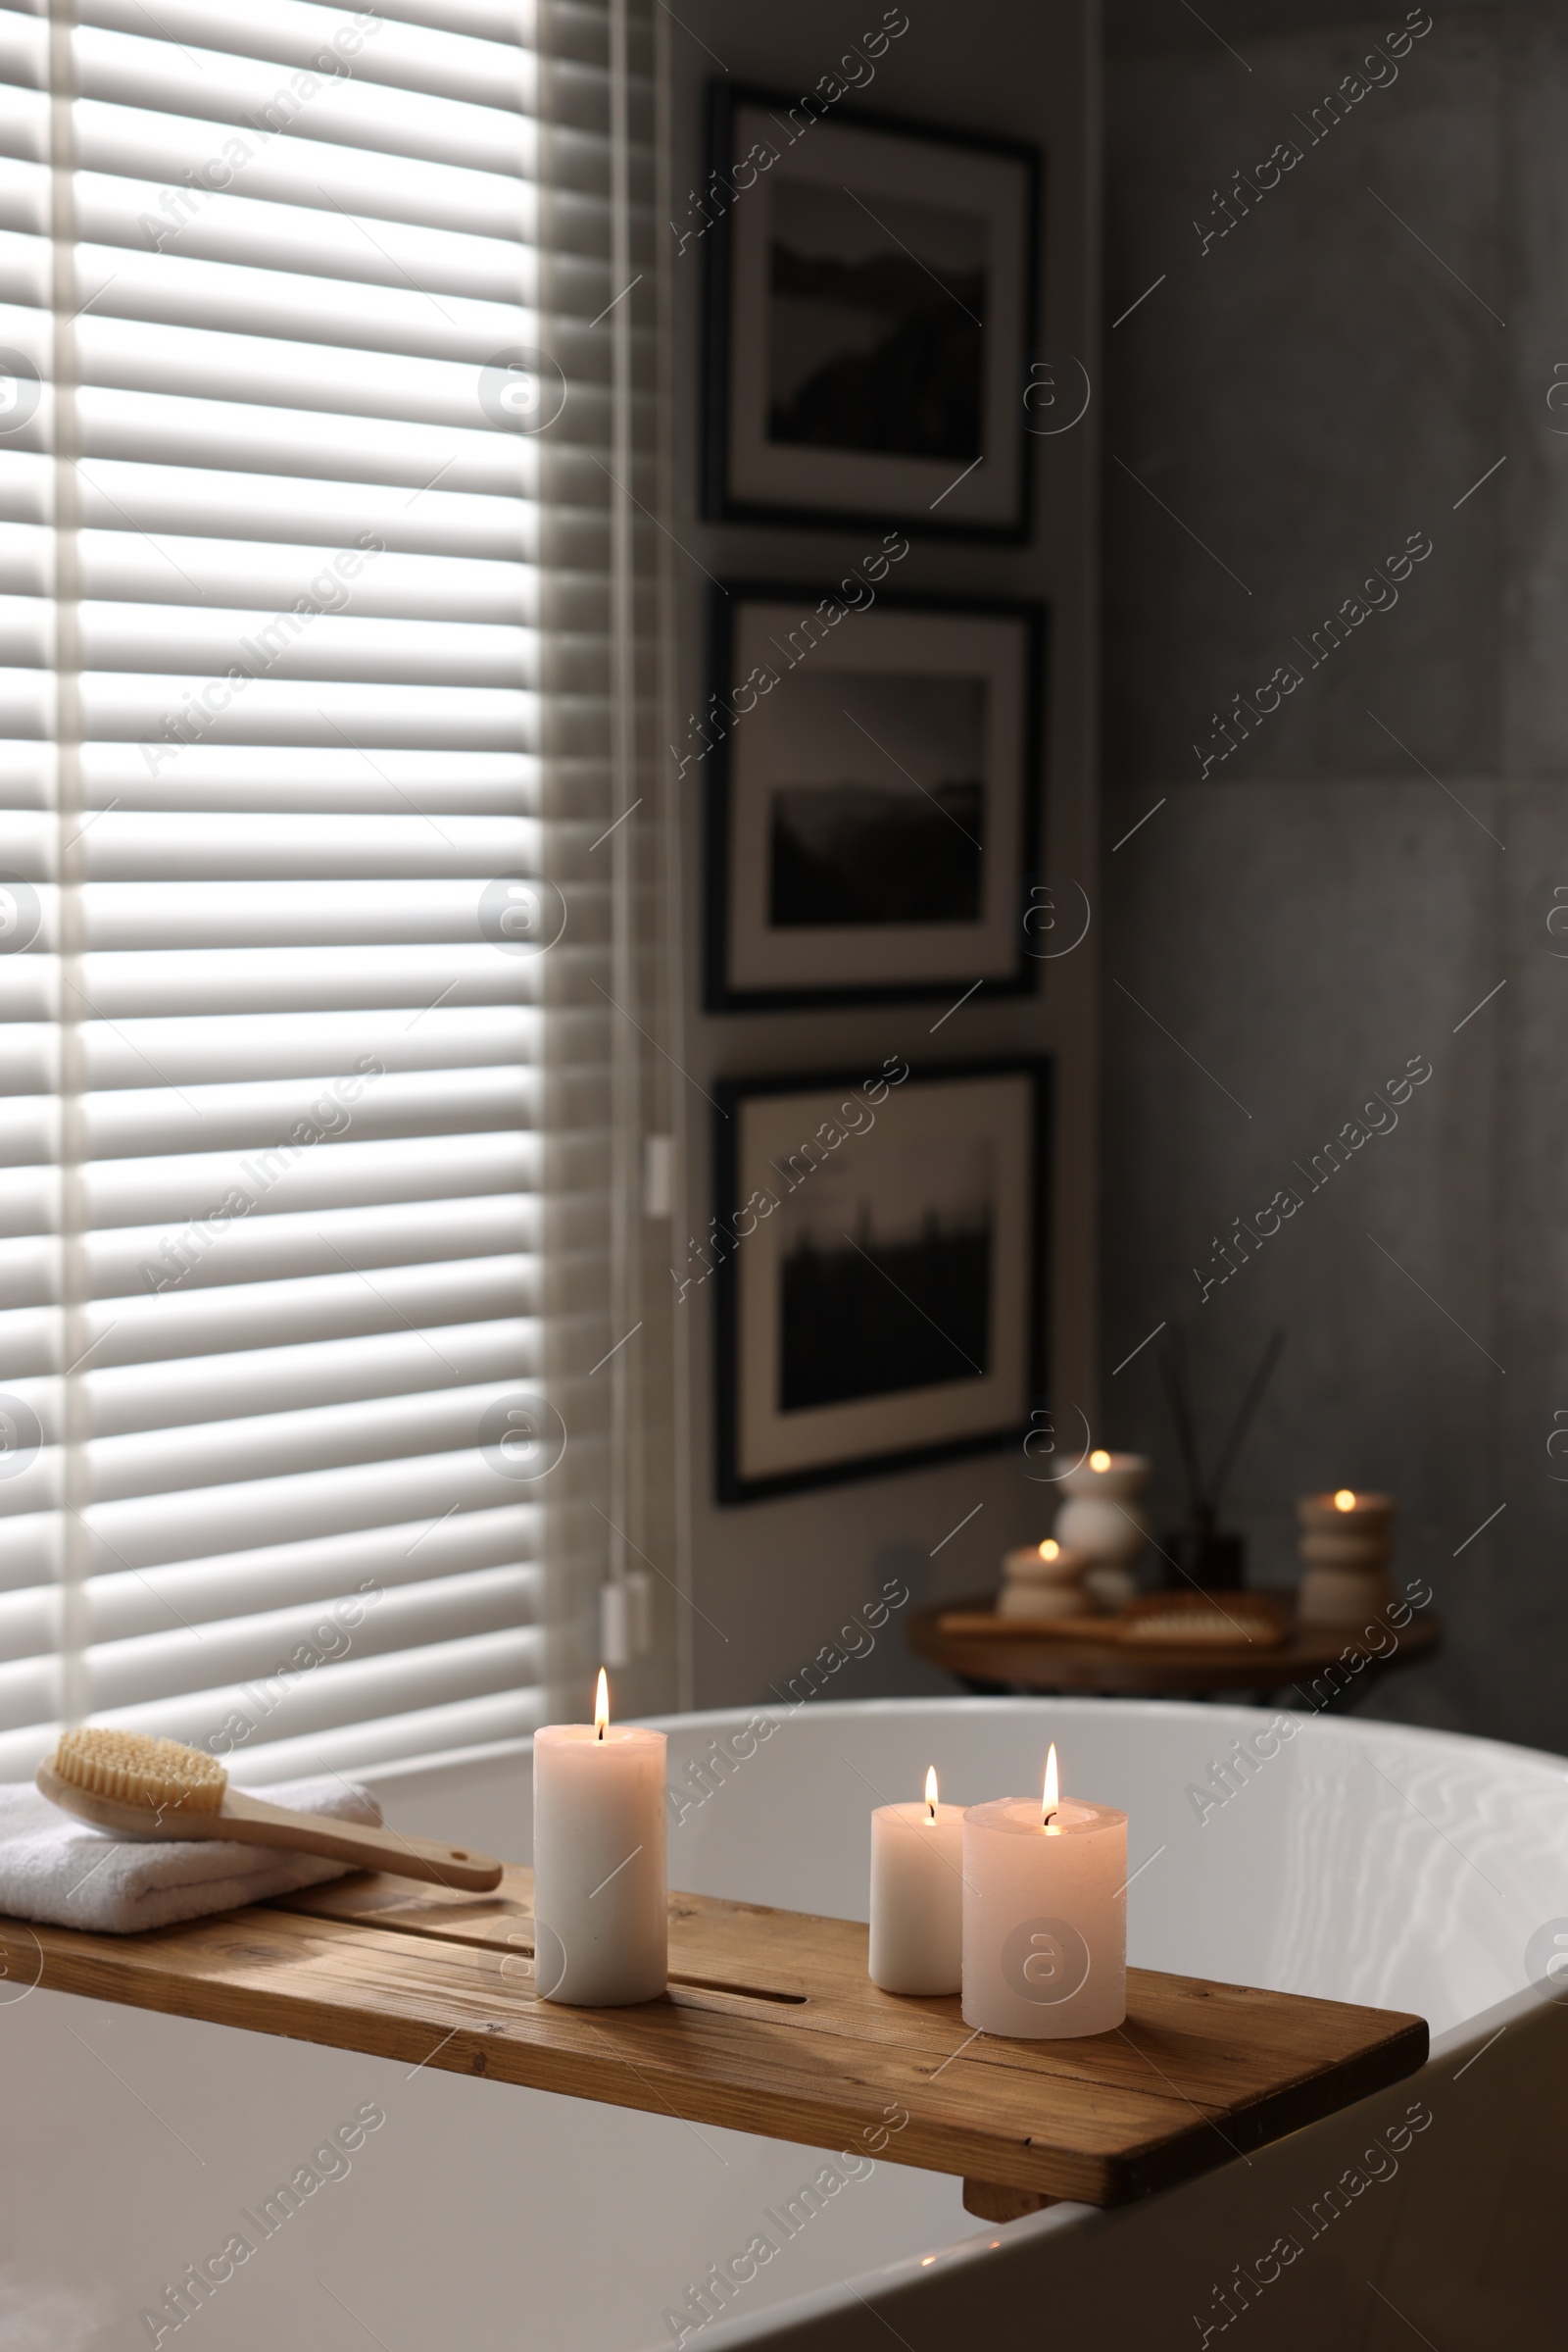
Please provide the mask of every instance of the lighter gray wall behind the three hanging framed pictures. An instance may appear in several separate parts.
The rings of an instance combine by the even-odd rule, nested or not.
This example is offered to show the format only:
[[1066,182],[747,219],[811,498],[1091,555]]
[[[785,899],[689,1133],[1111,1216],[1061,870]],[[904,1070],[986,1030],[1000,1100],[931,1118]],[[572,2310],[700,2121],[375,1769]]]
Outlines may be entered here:
[[[797,0],[790,7],[726,7],[679,0],[665,21],[675,94],[675,205],[703,174],[703,89],[722,71],[736,82],[813,89],[844,47],[882,21],[884,0]],[[1091,127],[1098,122],[1093,7],[1084,0],[966,0],[964,9],[910,0],[910,31],[896,40],[865,92],[865,106],[933,122],[966,125],[1048,148],[1044,320],[1046,348],[1095,362],[1098,308]],[[698,513],[698,313],[701,245],[672,266],[677,480],[675,595],[682,644],[679,710],[705,696],[705,567],[719,579],[837,579],[865,550],[865,532],[806,532],[715,524]],[[1048,743],[1048,837],[1053,863],[1093,873],[1095,771],[1095,470],[1098,407],[1074,433],[1037,440],[1037,527],[1025,548],[914,541],[898,588],[971,595],[1037,595],[1053,604],[1053,710]],[[1051,964],[1046,995],[987,1002],[954,1014],[936,1040],[933,1007],[795,1014],[703,1014],[698,1002],[698,800],[686,779],[686,1025],[679,1047],[689,1084],[689,1221],[703,1232],[708,1197],[708,1103],[712,1077],[788,1070],[875,1070],[886,1054],[910,1061],[1053,1051],[1058,1056],[1058,1232],[1056,1367],[1070,1395],[1093,1404],[1093,1124],[1095,1030],[1091,953]],[[957,990],[954,990],[957,995]],[[722,1204],[733,1207],[733,1204]],[[668,1228],[665,1228],[668,1230]],[[651,1244],[656,1247],[656,1244]],[[997,1583],[1006,1545],[1044,1534],[1051,1508],[1030,1484],[1018,1451],[971,1456],[896,1477],[823,1486],[771,1503],[719,1508],[712,1501],[712,1324],[710,1294],[679,1308],[691,1399],[691,1691],[698,1705],[762,1700],[825,1642],[886,1576],[905,1576],[914,1599],[973,1592]],[[969,1522],[952,1541],[959,1522]],[[663,1566],[663,1564],[661,1564]],[[907,1616],[907,1611],[905,1611]],[[898,1689],[950,1689],[917,1668],[893,1618],[870,1658],[835,1684],[835,1696],[867,1698]]]

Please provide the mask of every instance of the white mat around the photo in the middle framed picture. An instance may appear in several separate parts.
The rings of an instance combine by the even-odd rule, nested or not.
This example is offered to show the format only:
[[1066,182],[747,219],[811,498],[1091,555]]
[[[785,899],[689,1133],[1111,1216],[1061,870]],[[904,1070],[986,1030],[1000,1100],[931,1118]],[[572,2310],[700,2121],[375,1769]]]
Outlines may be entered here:
[[[783,670],[780,647],[816,604],[743,602],[736,616],[736,677],[752,668]],[[1018,971],[1020,844],[1025,776],[1030,628],[1013,614],[851,612],[802,656],[813,675],[983,677],[985,691],[985,830],[978,922],[875,922],[776,929],[769,920],[769,826],[773,783],[771,710],[790,691],[790,670],[755,710],[736,722],[729,753],[729,985],[748,988],[898,988],[919,981],[1006,978]],[[867,776],[877,774],[870,743]],[[823,779],[832,783],[837,779]],[[898,783],[898,769],[886,769]],[[919,776],[922,786],[933,779]]]

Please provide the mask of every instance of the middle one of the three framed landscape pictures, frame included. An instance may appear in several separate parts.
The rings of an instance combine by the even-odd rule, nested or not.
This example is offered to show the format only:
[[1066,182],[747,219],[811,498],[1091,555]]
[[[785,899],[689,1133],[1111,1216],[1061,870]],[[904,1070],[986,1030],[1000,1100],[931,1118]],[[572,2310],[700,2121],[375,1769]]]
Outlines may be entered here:
[[1034,985],[1044,607],[872,595],[715,590],[712,1011]]

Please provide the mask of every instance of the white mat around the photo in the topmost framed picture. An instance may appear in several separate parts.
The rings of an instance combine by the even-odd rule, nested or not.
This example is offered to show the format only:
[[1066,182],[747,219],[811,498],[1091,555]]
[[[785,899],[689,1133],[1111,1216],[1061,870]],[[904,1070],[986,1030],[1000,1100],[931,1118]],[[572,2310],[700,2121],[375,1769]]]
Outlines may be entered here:
[[[733,153],[776,148],[778,125],[757,106],[733,115]],[[933,174],[940,172],[940,186]],[[804,449],[769,440],[769,242],[771,188],[785,179],[825,188],[851,186],[875,209],[875,191],[912,205],[973,212],[987,223],[985,334],[980,376],[983,463],[884,456],[875,449]],[[938,146],[849,122],[813,122],[799,146],[731,209],[729,303],[729,496],[738,503],[804,506],[842,513],[926,515],[938,524],[1006,527],[1018,520],[1023,468],[1025,313],[1030,252],[1030,174],[1013,158]],[[957,482],[957,489],[952,487]],[[945,496],[943,496],[945,492]],[[936,501],[940,499],[940,506]]]

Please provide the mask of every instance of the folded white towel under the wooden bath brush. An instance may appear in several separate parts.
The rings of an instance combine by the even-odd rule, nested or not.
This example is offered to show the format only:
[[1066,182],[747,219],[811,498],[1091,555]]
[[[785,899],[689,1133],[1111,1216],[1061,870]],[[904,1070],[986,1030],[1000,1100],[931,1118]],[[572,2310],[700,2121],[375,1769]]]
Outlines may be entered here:
[[[292,1813],[334,1813],[381,1823],[381,1806],[353,1780],[280,1780],[268,1804]],[[49,1919],[129,1936],[141,1926],[200,1919],[205,1912],[259,1903],[341,1879],[348,1863],[277,1846],[237,1846],[228,1837],[132,1844],[61,1813],[31,1780],[0,1785],[0,1915]]]

